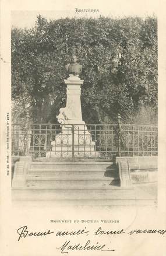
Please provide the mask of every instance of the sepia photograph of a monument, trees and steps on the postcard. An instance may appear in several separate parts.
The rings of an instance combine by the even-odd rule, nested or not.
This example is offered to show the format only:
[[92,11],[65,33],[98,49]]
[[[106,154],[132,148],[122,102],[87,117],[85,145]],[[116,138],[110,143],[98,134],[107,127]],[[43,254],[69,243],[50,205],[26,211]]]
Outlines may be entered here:
[[74,13],[12,12],[13,200],[157,205],[157,17]]

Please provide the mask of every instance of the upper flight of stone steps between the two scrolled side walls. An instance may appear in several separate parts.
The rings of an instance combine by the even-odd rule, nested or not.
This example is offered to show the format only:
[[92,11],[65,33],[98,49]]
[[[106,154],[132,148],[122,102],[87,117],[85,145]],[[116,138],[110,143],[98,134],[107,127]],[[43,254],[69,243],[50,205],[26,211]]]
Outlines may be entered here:
[[[117,180],[118,171],[114,164],[108,162],[92,163],[92,162],[54,162],[54,163],[30,163],[27,171],[27,185],[41,185],[42,187],[48,185],[49,187],[58,184],[66,185],[80,185],[94,187],[94,184],[100,185],[102,182],[110,184]],[[94,180],[98,180],[93,182]],[[110,183],[109,183],[110,181]],[[94,183],[94,184],[93,184]]]

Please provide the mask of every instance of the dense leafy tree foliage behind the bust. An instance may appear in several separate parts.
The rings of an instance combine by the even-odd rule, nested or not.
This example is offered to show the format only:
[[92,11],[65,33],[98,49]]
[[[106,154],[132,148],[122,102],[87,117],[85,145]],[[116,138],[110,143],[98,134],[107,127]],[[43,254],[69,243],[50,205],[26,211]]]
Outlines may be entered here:
[[[157,19],[37,17],[33,29],[12,29],[12,99],[34,122],[56,122],[65,106],[65,65],[83,65],[86,122],[123,120],[140,104],[157,110]],[[22,104],[21,104],[22,105]]]

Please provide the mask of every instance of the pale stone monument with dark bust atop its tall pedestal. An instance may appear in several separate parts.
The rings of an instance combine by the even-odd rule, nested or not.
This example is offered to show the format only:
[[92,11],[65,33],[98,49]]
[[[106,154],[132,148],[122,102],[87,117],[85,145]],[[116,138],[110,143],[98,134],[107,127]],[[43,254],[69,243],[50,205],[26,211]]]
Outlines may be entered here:
[[[75,55],[72,62],[65,66],[69,73],[66,84],[66,107],[60,108],[57,116],[62,125],[62,131],[51,142],[50,155],[47,157],[91,157],[96,155],[94,142],[82,120],[82,106],[80,101],[81,85],[83,80],[79,78],[82,65],[77,63]],[[74,153],[73,153],[74,152]]]

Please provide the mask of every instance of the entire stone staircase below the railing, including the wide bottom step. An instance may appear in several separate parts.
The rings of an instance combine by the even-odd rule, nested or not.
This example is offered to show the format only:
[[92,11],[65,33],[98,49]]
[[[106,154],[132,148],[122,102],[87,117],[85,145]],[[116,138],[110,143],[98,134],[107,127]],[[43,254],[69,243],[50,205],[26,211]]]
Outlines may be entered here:
[[[156,204],[153,187],[120,187],[116,164],[111,162],[18,163],[14,177],[18,180],[12,188],[15,202],[51,202],[57,206]],[[20,177],[24,177],[21,183]]]

